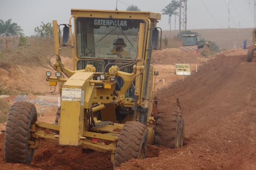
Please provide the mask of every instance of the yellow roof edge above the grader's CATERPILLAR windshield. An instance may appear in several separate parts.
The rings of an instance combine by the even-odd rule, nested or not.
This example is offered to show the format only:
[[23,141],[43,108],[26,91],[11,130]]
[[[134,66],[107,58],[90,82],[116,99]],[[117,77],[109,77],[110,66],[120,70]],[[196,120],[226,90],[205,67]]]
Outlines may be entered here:
[[161,20],[161,14],[147,11],[119,11],[119,10],[96,10],[96,9],[71,9],[71,15],[75,17],[103,17],[113,16],[114,18],[127,19],[153,19]]

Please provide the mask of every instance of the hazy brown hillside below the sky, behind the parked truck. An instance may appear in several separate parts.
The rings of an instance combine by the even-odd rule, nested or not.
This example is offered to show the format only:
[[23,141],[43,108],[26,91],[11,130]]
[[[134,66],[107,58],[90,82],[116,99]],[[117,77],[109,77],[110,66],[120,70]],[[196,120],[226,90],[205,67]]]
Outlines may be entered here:
[[[190,31],[201,34],[204,40],[214,41],[219,48],[234,49],[243,48],[246,39],[247,45],[253,45],[251,31],[253,28],[230,28],[230,29],[192,29]],[[177,36],[178,31],[171,31],[171,37]],[[169,36],[169,31],[163,31],[163,37]]]

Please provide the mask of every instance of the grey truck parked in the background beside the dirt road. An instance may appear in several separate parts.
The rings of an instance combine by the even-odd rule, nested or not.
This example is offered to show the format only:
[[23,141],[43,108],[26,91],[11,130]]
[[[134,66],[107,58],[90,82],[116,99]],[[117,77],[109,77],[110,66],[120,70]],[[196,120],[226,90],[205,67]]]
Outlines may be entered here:
[[191,51],[199,53],[198,49],[204,48],[204,40],[201,35],[187,34],[182,35],[183,46],[180,47],[181,51]]

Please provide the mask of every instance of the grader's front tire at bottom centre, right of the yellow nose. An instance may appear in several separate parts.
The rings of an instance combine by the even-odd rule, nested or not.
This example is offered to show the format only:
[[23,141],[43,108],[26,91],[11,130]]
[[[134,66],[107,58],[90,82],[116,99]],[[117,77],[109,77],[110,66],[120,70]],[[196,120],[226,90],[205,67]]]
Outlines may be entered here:
[[114,168],[130,159],[145,159],[147,147],[147,127],[140,122],[126,122],[116,146]]

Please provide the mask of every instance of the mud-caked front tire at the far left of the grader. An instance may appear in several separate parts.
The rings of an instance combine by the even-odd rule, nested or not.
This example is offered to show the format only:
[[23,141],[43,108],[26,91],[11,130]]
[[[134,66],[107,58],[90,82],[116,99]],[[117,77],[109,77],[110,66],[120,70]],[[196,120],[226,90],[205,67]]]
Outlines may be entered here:
[[4,136],[4,159],[6,162],[30,164],[34,150],[29,148],[30,126],[37,121],[35,105],[29,102],[16,102],[12,105]]

